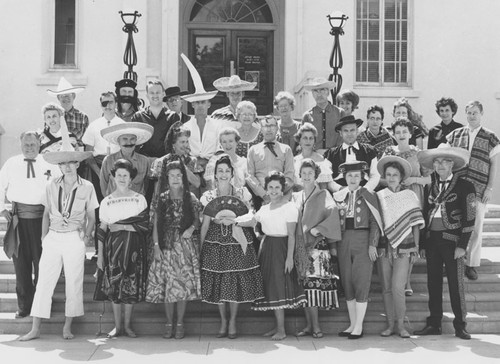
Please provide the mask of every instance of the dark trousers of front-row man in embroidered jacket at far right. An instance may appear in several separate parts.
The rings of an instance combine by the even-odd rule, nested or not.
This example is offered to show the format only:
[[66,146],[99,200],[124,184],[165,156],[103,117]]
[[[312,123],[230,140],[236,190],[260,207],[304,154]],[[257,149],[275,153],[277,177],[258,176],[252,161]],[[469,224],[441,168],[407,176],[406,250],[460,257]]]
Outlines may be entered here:
[[465,257],[455,259],[454,242],[443,240],[442,232],[431,231],[430,239],[426,244],[427,258],[427,289],[429,290],[429,311],[427,324],[441,327],[443,318],[443,263],[446,267],[446,277],[450,290],[450,301],[455,319],[455,330],[465,329],[464,272]]

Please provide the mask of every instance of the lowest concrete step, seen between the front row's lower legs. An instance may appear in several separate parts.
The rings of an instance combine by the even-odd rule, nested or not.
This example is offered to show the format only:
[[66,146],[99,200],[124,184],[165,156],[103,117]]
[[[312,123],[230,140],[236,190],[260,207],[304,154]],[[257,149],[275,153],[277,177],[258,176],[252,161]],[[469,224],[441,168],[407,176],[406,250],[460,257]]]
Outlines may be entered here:
[[[425,326],[427,310],[409,311],[406,315],[406,326],[410,332]],[[443,317],[443,333],[452,334],[453,313],[445,309]],[[186,336],[210,335],[217,333],[220,326],[218,313],[212,315],[187,315],[185,317]],[[50,320],[43,320],[43,334],[60,334],[64,323],[64,315],[56,314]],[[325,334],[336,335],[348,326],[348,315],[345,311],[320,311],[321,329]],[[271,312],[258,315],[246,315],[243,311],[238,315],[239,335],[261,335],[274,325]],[[302,329],[305,325],[303,310],[287,310],[285,327],[289,335]],[[165,316],[162,313],[134,313],[132,326],[138,335],[161,335],[165,330]],[[114,327],[112,312],[104,315],[87,313],[73,321],[73,333],[76,335],[92,335],[106,333]],[[386,328],[385,315],[380,312],[367,312],[363,332],[378,335]],[[0,313],[0,334],[25,334],[31,329],[31,318],[14,319],[14,312]],[[475,312],[467,314],[467,330],[474,334],[497,334],[500,331],[500,314],[496,312]]]

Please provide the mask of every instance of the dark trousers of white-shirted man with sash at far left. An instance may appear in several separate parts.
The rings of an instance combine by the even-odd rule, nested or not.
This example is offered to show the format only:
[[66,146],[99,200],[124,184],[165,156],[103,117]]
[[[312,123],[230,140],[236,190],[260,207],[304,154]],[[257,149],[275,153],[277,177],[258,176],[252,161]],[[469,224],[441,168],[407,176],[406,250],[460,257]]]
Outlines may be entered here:
[[18,231],[19,251],[17,256],[12,258],[16,272],[17,306],[19,313],[29,314],[38,281],[38,263],[42,256],[42,218],[20,218]]

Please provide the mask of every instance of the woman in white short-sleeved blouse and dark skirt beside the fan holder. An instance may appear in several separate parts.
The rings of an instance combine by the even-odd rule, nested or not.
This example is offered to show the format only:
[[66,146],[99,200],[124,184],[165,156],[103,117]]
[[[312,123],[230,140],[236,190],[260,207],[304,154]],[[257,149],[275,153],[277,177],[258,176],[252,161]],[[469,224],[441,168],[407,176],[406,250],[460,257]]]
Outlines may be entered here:
[[302,307],[307,301],[304,289],[298,282],[293,259],[298,211],[295,204],[283,196],[283,173],[271,172],[265,179],[265,188],[271,202],[254,215],[254,221],[260,223],[264,233],[259,253],[264,298],[255,301],[252,308],[274,311],[276,327],[264,336],[283,340],[286,337],[284,310]]

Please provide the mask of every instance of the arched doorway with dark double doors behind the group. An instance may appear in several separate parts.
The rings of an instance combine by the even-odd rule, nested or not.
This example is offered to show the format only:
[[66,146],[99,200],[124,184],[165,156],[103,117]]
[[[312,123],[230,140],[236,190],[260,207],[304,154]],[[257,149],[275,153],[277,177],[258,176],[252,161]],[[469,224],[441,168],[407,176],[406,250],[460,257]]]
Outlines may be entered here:
[[[255,81],[256,90],[246,92],[245,99],[257,105],[260,115],[273,111],[278,29],[274,5],[266,0],[196,0],[186,4],[183,13],[181,33],[186,34],[181,48],[198,69],[206,89],[214,89],[212,82],[217,78],[232,74]],[[181,83],[192,91],[191,79],[185,77],[187,73],[181,73]],[[219,93],[212,100],[211,111],[226,104],[225,95]]]

